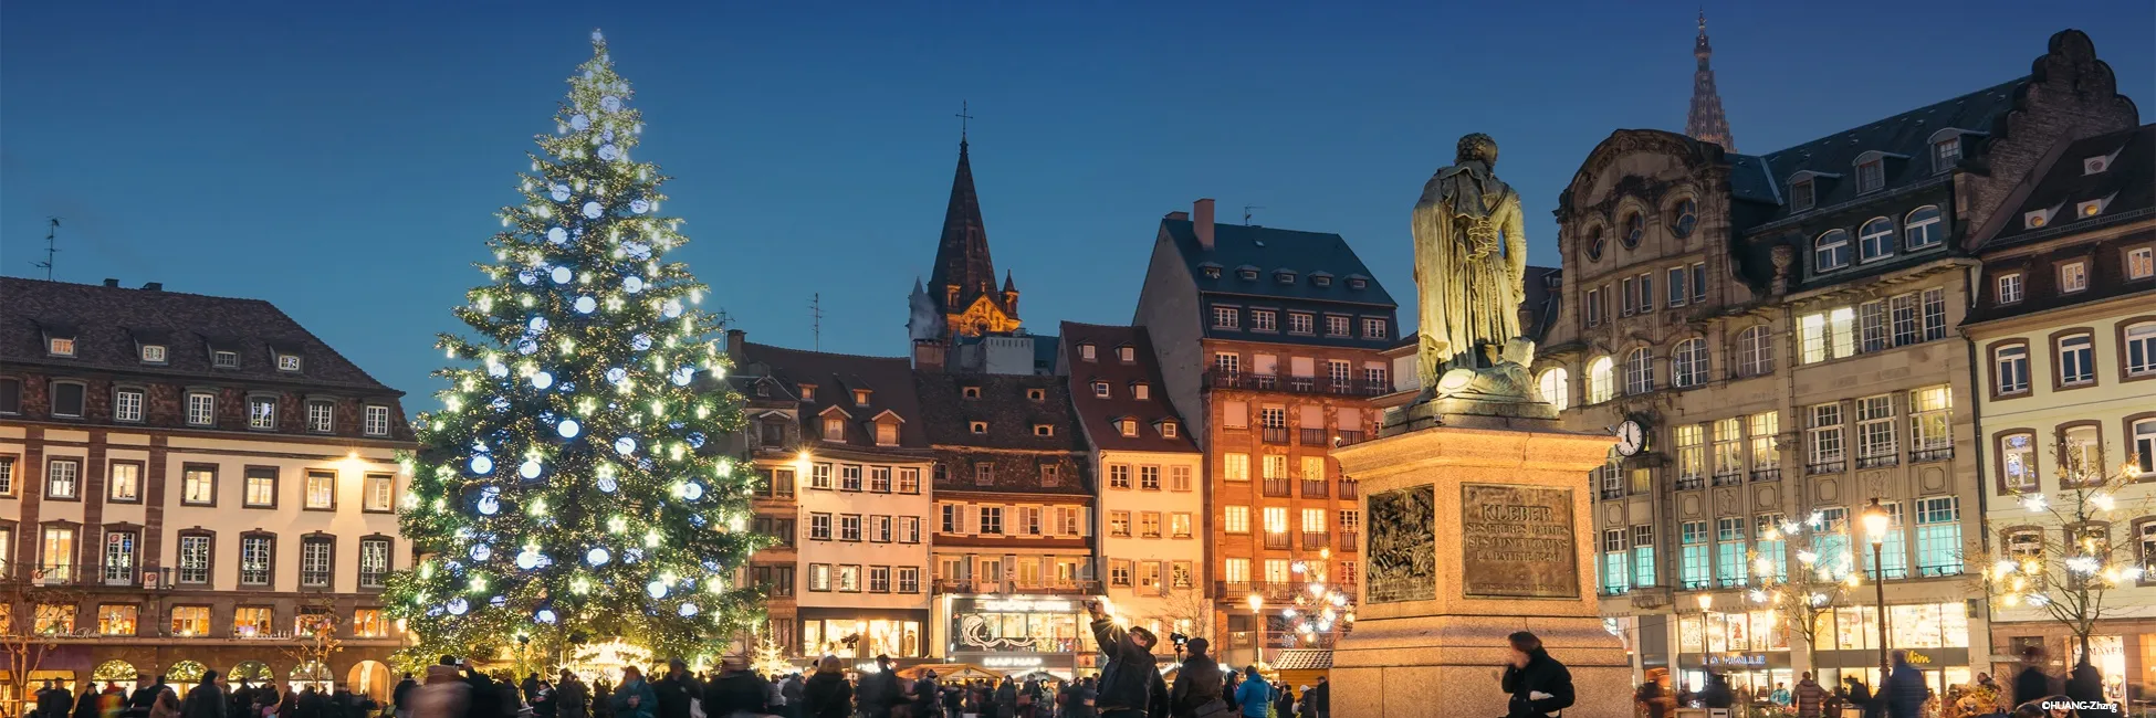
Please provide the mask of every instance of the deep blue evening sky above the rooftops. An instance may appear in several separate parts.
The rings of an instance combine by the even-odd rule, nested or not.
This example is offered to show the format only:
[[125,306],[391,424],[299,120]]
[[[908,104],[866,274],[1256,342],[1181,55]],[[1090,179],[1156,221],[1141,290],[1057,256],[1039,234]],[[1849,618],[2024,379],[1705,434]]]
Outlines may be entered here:
[[[438,9],[433,4],[446,6]],[[903,354],[959,101],[1028,326],[1130,321],[1162,213],[1335,231],[1399,298],[1408,209],[1490,132],[1537,263],[1617,127],[1684,129],[1695,2],[9,2],[0,274],[276,302],[375,377],[436,382],[494,209],[604,28],[677,252],[752,341]],[[1348,6],[1339,6],[1348,4]],[[2147,0],[1714,2],[1742,151],[2029,71],[2083,28],[2143,106]],[[2156,112],[2156,108],[2143,108]],[[707,304],[709,306],[709,304]],[[1410,319],[1401,317],[1404,321]]]

